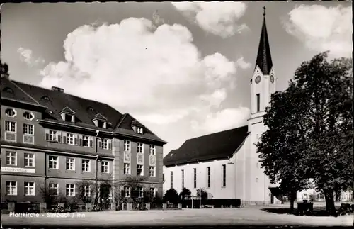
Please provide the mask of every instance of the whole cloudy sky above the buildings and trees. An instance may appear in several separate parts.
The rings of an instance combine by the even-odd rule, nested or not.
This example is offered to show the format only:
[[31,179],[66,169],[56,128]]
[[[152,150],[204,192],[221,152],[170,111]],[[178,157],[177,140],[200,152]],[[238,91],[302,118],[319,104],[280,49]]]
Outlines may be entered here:
[[351,57],[350,1],[6,3],[1,60],[10,78],[109,104],[168,143],[237,128],[263,6],[277,90],[326,50]]

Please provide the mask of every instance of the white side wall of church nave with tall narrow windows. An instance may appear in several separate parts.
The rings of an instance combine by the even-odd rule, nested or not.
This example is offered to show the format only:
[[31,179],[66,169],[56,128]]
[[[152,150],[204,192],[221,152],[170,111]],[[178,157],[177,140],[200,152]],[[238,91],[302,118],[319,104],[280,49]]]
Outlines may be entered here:
[[[229,160],[212,160],[185,164],[182,166],[164,167],[164,192],[171,189],[171,172],[173,172],[173,189],[178,194],[182,191],[181,174],[184,169],[184,186],[189,189],[192,195],[197,194],[197,189],[205,189],[212,194],[213,199],[234,199],[235,198],[235,164],[228,164]],[[232,160],[231,160],[232,162]],[[222,164],[226,164],[226,186],[222,187]],[[210,188],[207,188],[207,167],[210,167]],[[193,168],[197,169],[197,188],[193,187]]]

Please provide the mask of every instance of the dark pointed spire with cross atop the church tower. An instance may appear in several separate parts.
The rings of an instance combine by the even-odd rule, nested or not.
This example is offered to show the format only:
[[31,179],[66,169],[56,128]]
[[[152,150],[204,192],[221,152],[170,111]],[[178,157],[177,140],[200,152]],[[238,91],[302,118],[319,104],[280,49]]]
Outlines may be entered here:
[[258,66],[263,74],[269,74],[273,67],[272,57],[270,55],[270,47],[268,41],[267,26],[265,25],[265,6],[263,6],[263,26],[261,39],[259,40],[258,54],[256,66]]

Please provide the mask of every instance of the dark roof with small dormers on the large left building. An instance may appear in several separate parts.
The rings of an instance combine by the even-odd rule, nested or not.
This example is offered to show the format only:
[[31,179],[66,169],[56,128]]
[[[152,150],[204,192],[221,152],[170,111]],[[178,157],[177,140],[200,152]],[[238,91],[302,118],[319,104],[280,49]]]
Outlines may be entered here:
[[[6,92],[11,90],[13,93]],[[4,91],[5,93],[3,93]],[[114,132],[166,143],[144,125],[142,125],[144,133],[135,133],[132,129],[132,121],[135,121],[135,118],[130,116],[129,113],[122,114],[108,104],[73,96],[64,93],[64,91],[58,90],[57,88],[52,90],[45,89],[39,86],[16,82],[7,77],[1,77],[1,99],[4,97],[47,107],[46,116],[43,116],[42,118],[47,121],[76,125],[84,128],[93,128],[96,130]],[[76,122],[71,123],[63,121],[60,116],[62,111],[74,113]],[[94,118],[105,118],[108,123],[107,128],[96,127],[93,123]]]

